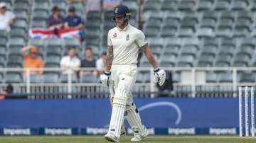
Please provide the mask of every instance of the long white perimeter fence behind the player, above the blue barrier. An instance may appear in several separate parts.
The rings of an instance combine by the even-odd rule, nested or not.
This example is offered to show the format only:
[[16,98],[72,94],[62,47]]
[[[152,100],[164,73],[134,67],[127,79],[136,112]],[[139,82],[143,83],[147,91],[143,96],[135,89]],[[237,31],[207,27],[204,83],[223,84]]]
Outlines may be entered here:
[[[256,67],[162,67],[161,69],[171,71],[174,90],[159,91],[153,82],[153,69],[140,67],[137,83],[132,89],[134,96],[236,97],[238,86],[255,86]],[[41,69],[43,74],[35,76],[23,75],[23,70],[21,68],[0,69],[0,91],[11,83],[16,96],[26,95],[28,98],[42,98],[42,96],[43,98],[105,98],[108,96],[107,88],[100,83],[99,76],[96,74],[62,74],[63,70],[60,68],[44,68]],[[29,73],[35,69],[26,70]],[[89,73],[92,70],[95,69],[80,69]],[[252,80],[239,82],[242,74],[249,75],[249,79],[252,75]]]

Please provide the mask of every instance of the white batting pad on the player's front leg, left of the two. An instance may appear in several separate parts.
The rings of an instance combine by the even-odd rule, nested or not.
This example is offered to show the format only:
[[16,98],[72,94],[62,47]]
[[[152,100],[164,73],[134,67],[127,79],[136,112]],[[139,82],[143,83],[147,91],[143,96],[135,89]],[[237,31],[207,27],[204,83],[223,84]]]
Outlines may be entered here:
[[114,94],[113,108],[110,120],[109,132],[115,137],[120,137],[121,127],[124,122],[124,111],[127,101],[127,91],[124,88],[117,88]]

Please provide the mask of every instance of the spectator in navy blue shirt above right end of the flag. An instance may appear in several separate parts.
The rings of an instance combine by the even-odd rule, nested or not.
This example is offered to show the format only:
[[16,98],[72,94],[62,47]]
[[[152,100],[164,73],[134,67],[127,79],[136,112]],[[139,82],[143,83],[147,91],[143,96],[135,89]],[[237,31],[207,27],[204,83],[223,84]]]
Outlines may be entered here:
[[65,18],[65,28],[82,28],[82,18],[75,13],[75,7],[68,9],[68,17]]

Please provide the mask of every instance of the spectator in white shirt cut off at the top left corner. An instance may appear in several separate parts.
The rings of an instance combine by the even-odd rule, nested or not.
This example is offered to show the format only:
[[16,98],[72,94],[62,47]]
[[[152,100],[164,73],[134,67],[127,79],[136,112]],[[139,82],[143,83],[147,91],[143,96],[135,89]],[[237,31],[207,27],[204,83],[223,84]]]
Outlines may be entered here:
[[14,13],[6,11],[6,4],[4,2],[0,3],[0,30],[6,30],[9,32],[11,30],[11,24],[14,23]]

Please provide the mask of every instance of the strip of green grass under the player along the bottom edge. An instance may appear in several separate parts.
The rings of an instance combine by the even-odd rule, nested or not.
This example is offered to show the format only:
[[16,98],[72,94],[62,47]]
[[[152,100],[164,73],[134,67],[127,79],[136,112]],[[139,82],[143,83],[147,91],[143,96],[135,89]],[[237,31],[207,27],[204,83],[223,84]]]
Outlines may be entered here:
[[[120,142],[130,142],[131,137],[122,137]],[[0,143],[101,143],[107,142],[102,136],[33,136],[0,137]],[[249,143],[256,142],[256,137],[216,137],[216,136],[151,136],[143,143]]]

